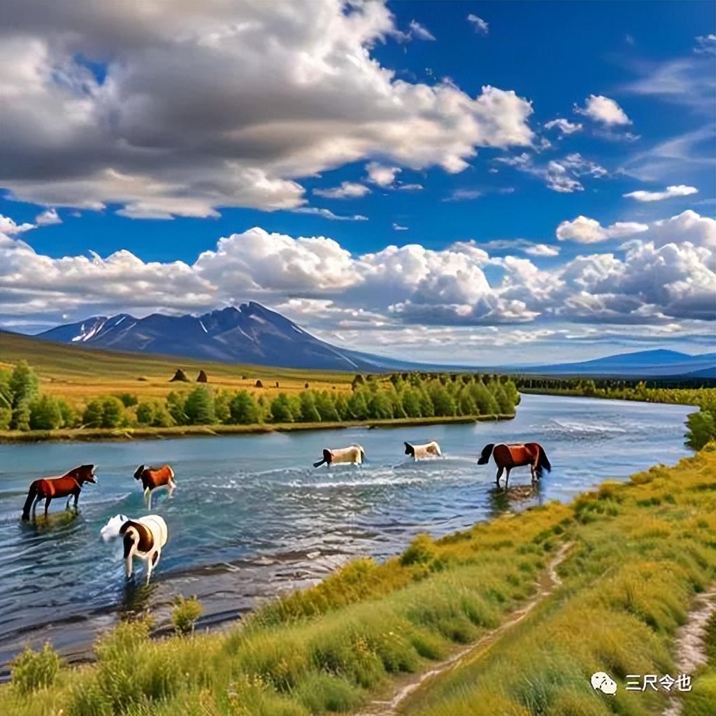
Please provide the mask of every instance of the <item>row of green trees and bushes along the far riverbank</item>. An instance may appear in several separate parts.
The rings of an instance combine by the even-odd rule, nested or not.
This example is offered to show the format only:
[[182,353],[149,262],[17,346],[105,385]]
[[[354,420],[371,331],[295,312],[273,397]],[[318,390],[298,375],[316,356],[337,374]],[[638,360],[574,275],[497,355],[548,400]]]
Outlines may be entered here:
[[173,390],[165,400],[132,393],[89,400],[82,410],[41,394],[26,362],[0,371],[0,429],[56,430],[60,427],[170,427],[257,423],[345,422],[418,417],[513,415],[520,399],[508,377],[478,374],[357,374],[350,393],[329,390],[279,392],[273,397],[248,390],[214,390],[202,384]]

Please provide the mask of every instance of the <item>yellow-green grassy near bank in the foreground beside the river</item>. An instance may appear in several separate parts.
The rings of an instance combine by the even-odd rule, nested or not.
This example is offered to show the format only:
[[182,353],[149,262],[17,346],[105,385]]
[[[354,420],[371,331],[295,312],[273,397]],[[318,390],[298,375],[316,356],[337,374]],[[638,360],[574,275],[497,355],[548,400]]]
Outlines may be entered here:
[[[97,662],[54,674],[25,657],[0,688],[6,716],[306,716],[351,712],[407,673],[477,642],[525,604],[561,546],[561,584],[480,658],[425,684],[421,716],[656,715],[664,692],[624,690],[627,674],[674,673],[674,636],[716,566],[716,445],[667,468],[607,482],[570,505],[505,514],[384,563],[359,559],[270,601],[222,634],[147,638],[127,622]],[[619,690],[591,689],[609,672]],[[48,675],[49,674],[49,675]],[[714,702],[713,661],[689,714]],[[44,685],[47,684],[47,685]]]

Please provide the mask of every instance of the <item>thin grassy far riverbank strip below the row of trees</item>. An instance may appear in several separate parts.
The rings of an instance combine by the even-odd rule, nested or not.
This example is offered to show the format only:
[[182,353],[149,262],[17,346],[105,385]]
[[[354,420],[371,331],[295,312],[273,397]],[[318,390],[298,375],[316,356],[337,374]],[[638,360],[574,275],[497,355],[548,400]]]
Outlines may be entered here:
[[105,440],[156,440],[178,437],[219,437],[221,435],[261,435],[269,432],[303,430],[341,430],[349,427],[415,427],[422,425],[459,425],[469,422],[512,420],[511,415],[448,415],[445,417],[412,417],[392,420],[350,420],[347,422],[280,422],[254,425],[173,425],[172,427],[61,428],[59,430],[0,430],[0,445],[17,442]]

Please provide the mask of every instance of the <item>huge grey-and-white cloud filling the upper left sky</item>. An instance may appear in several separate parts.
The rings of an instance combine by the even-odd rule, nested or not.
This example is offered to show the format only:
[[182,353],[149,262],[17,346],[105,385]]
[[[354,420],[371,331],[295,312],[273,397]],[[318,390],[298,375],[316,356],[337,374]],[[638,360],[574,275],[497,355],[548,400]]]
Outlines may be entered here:
[[395,29],[380,1],[4,4],[0,182],[49,206],[216,216],[299,207],[301,177],[349,162],[457,172],[531,144],[514,92],[382,67]]

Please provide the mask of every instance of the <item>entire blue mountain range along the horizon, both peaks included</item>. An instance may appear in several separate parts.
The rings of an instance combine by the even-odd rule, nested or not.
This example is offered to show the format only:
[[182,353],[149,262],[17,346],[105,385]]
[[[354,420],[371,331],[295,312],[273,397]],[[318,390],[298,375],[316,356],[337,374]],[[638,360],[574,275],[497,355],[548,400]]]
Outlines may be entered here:
[[478,368],[406,362],[321,341],[294,321],[255,301],[201,316],[151,314],[141,319],[130,314],[92,316],[77,323],[56,326],[37,338],[90,348],[284,368],[355,372],[469,368],[533,375],[716,379],[715,353],[690,355],[663,349],[584,362],[519,367]]

